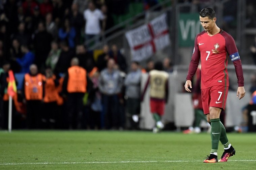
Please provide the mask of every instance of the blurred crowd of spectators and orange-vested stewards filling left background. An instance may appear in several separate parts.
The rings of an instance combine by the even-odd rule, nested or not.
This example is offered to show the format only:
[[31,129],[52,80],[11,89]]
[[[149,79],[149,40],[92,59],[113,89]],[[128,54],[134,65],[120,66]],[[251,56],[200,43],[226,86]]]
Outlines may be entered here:
[[[1,1],[0,13],[2,129],[8,124],[9,70],[18,89],[13,96],[13,128],[125,128],[126,99],[139,100],[139,93],[131,91],[140,89],[141,73],[152,70],[154,63],[141,69],[132,62],[127,72],[117,45],[87,50],[87,39],[113,26],[108,3],[9,0]],[[169,59],[164,65],[172,72]],[[139,104],[134,114],[139,114],[138,108]],[[138,128],[138,120],[131,124]]]

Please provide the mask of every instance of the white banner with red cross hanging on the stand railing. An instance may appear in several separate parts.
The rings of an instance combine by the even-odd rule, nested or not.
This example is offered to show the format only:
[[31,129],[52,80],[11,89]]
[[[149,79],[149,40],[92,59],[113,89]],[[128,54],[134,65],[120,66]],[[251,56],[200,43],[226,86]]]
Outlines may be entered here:
[[125,33],[131,48],[132,60],[141,61],[170,44],[166,14],[148,24]]

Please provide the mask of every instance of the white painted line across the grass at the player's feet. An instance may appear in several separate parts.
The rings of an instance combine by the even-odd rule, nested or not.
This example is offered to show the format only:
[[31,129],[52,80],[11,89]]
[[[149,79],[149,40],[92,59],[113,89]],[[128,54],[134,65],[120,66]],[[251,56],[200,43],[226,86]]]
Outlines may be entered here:
[[[120,162],[42,162],[42,163],[1,163],[0,165],[43,165],[43,164],[115,164],[115,163],[152,163],[152,162],[203,162],[203,161],[120,161]],[[230,160],[228,162],[256,162],[256,160]]]

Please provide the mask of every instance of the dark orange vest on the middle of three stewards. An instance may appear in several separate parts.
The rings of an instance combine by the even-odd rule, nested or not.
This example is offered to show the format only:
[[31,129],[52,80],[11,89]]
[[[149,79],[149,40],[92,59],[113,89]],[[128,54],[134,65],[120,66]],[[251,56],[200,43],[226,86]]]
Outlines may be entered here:
[[46,81],[44,84],[44,89],[45,89],[44,102],[46,103],[57,101],[58,89],[54,83],[55,79],[56,79],[55,76],[46,78]]

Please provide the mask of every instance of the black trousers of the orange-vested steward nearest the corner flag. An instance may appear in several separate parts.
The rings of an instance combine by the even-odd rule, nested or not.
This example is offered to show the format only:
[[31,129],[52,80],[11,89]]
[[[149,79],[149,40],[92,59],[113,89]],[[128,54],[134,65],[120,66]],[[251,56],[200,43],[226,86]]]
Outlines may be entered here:
[[41,100],[28,100],[27,101],[27,127],[29,129],[41,128],[41,113],[42,101]]

